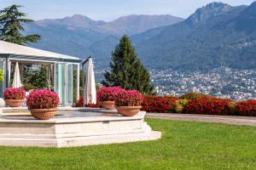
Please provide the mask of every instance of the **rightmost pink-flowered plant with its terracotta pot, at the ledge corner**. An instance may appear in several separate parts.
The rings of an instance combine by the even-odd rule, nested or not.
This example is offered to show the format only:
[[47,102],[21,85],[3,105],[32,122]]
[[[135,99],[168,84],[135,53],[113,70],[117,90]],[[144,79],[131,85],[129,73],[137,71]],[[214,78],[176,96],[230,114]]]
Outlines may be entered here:
[[137,90],[126,90],[115,99],[115,108],[122,116],[135,116],[142,108],[143,95]]

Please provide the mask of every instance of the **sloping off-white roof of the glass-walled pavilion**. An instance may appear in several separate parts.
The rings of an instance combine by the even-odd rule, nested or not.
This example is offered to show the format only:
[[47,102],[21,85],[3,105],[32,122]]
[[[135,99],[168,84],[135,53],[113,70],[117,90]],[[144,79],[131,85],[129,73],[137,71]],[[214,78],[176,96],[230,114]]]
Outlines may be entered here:
[[55,58],[64,60],[81,60],[77,57],[68,56],[65,54],[57,54],[37,48],[29,48],[11,42],[0,41],[0,54],[18,55],[18,56],[32,56],[43,58]]

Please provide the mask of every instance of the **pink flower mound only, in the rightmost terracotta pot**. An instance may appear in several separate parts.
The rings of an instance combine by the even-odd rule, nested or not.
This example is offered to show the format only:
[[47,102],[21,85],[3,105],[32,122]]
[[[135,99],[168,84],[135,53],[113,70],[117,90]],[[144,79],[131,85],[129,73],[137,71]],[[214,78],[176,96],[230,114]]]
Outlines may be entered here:
[[140,106],[143,95],[137,90],[122,90],[114,100],[117,106]]

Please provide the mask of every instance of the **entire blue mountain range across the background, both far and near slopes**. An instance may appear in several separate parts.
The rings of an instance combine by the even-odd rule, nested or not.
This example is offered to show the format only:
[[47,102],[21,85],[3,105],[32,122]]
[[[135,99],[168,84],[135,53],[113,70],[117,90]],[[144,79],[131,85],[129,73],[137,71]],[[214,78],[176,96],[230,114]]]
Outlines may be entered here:
[[92,55],[107,69],[123,34],[131,36],[149,69],[207,70],[219,66],[256,68],[256,3],[209,3],[186,20],[171,15],[129,15],[105,22],[73,15],[26,26],[42,40],[32,47],[79,57]]

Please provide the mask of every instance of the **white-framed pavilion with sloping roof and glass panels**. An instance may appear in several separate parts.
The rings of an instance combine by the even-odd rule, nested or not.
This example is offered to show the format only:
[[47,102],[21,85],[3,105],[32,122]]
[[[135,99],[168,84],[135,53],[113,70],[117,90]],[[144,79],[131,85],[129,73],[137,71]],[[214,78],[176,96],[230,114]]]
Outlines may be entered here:
[[[0,87],[9,88],[11,63],[49,63],[54,71],[55,92],[60,95],[61,105],[73,104],[73,93],[79,98],[79,64],[81,59],[65,54],[57,54],[38,48],[29,48],[15,43],[0,41],[0,68],[4,72],[4,82]],[[77,69],[77,92],[73,92],[73,70]]]

